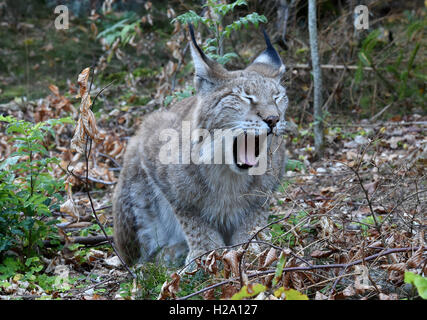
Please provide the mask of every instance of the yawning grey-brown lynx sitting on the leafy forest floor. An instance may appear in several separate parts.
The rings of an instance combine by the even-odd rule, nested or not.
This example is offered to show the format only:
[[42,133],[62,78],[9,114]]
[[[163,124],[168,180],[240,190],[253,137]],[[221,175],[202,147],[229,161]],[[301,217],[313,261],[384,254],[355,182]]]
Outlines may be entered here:
[[[115,243],[129,264],[152,261],[160,253],[167,262],[179,264],[184,257],[190,262],[209,250],[247,241],[266,223],[265,206],[284,174],[288,98],[280,80],[285,66],[267,34],[267,48],[246,69],[228,71],[205,55],[189,29],[197,93],[146,116],[129,141],[114,193]],[[162,135],[177,132],[184,144],[184,123],[210,133],[240,129],[243,144],[238,146],[235,137],[222,147],[231,163],[165,164],[159,156]],[[255,130],[256,146],[249,143],[249,130]],[[256,133],[261,131],[265,139]],[[189,139],[191,149],[203,145],[198,135]],[[214,148],[215,139],[206,141],[208,149]],[[182,160],[180,147],[169,153]],[[265,173],[250,174],[260,148],[267,150]]]

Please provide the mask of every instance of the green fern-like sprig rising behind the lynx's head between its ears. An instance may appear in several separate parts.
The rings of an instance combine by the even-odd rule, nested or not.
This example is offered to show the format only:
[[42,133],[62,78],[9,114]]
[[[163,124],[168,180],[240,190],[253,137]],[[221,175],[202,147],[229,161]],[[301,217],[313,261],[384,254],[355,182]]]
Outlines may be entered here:
[[257,12],[253,12],[224,26],[225,16],[233,12],[235,7],[247,5],[248,4],[245,0],[237,0],[229,4],[216,0],[208,0],[204,7],[207,7],[211,12],[209,18],[199,16],[193,10],[189,10],[188,12],[173,19],[172,23],[179,21],[181,24],[191,23],[196,27],[199,23],[205,25],[212,37],[206,40],[205,44],[202,46],[203,50],[210,58],[221,64],[226,64],[231,59],[236,58],[237,54],[235,52],[224,53],[224,39],[229,38],[233,31],[238,31],[242,27],[248,28],[250,23],[255,25],[255,27],[258,27],[260,22],[267,22],[267,18],[265,16],[259,15]]

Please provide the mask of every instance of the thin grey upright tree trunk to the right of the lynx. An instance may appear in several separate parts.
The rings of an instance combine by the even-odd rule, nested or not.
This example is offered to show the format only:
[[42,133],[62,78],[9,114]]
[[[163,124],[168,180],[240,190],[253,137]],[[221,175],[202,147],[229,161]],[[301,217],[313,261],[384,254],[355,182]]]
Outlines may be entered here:
[[319,64],[319,50],[317,45],[317,18],[316,0],[308,1],[308,31],[310,33],[311,62],[314,80],[314,147],[316,158],[323,156],[323,116],[322,116],[322,72]]

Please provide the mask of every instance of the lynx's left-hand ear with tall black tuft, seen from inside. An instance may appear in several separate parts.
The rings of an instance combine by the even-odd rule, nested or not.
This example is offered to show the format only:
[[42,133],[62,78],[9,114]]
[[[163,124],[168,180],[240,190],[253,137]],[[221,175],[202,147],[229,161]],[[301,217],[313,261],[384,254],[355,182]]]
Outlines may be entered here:
[[228,71],[218,62],[205,55],[196,42],[193,26],[189,24],[188,28],[191,36],[191,56],[195,68],[194,84],[197,91],[209,91],[227,78]]

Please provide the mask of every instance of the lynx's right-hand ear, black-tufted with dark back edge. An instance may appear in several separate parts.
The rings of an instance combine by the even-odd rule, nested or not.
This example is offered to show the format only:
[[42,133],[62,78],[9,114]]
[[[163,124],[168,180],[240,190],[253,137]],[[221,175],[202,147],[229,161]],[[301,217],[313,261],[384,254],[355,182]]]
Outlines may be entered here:
[[274,49],[271,44],[270,38],[268,37],[267,32],[265,32],[265,29],[263,29],[262,32],[264,33],[267,48],[261,52],[261,54],[246,68],[246,70],[256,71],[266,77],[280,80],[286,71],[286,67],[283,64],[282,59],[280,59],[276,49]]

